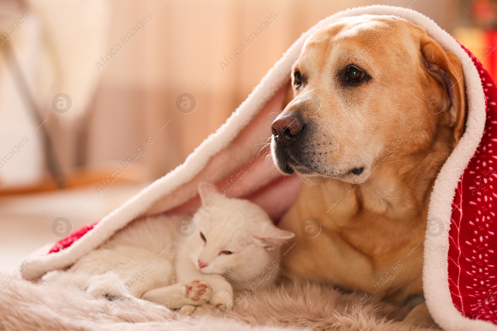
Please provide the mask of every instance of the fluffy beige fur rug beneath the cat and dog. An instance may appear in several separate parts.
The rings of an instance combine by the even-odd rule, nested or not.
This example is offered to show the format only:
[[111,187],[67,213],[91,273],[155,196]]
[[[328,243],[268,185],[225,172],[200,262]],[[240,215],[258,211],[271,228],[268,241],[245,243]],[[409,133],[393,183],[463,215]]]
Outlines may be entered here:
[[[0,279],[5,279],[0,273]],[[254,290],[234,309],[183,317],[140,299],[95,299],[72,287],[15,280],[0,287],[0,330],[327,330],[428,331],[403,321],[407,311],[319,284]],[[364,299],[362,300],[364,302]]]

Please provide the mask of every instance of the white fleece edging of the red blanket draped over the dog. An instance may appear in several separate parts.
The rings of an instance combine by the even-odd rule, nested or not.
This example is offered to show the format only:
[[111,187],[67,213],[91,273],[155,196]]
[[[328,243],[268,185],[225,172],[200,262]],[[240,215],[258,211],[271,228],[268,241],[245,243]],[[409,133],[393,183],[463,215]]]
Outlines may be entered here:
[[[362,14],[396,15],[422,27],[428,35],[440,45],[455,54],[463,64],[463,71],[468,97],[468,119],[466,132],[458,145],[443,165],[435,181],[431,195],[428,217],[436,216],[445,223],[446,231],[438,238],[427,237],[424,243],[423,288],[428,309],[435,322],[444,330],[497,330],[497,326],[482,320],[465,318],[454,307],[448,283],[449,249],[448,229],[450,228],[451,204],[459,178],[483,135],[486,113],[485,95],[482,83],[473,61],[461,46],[435,22],[426,16],[403,7],[372,5],[347,9],[331,15],[313,26],[287,50],[283,57],[271,68],[254,88],[248,98],[238,107],[236,112],[223,124],[216,133],[211,134],[185,160],[166,176],[158,179],[135,197],[126,201],[119,208],[105,216],[93,230],[88,231],[80,240],[57,253],[47,255],[50,246],[43,247],[36,255],[30,255],[26,261],[29,267],[23,272],[24,278],[36,278],[45,272],[72,265],[87,251],[90,251],[107,240],[115,231],[124,227],[150,206],[180,185],[191,180],[207,164],[211,157],[224,148],[270,100],[270,98],[286,83],[285,76],[290,74],[294,61],[298,58],[305,40],[316,30],[331,20]],[[172,208],[174,206],[168,206]],[[83,248],[84,247],[84,248]],[[460,329],[458,329],[460,328]]]

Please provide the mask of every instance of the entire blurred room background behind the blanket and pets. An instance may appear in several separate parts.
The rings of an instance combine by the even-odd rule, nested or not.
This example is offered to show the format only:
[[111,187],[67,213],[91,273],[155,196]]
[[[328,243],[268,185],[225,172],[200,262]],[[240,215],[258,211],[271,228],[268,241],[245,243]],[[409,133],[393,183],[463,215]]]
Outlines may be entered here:
[[370,4],[429,16],[496,77],[490,0],[1,0],[0,270],[181,164],[301,33]]

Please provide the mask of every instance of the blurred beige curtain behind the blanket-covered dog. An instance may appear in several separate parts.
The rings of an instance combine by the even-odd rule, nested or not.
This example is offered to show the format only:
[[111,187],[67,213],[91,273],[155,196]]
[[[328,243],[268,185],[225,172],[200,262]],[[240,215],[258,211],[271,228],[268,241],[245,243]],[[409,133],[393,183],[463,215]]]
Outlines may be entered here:
[[[407,6],[411,0],[379,2]],[[76,156],[66,153],[72,155],[66,164],[110,161],[117,166],[152,137],[154,142],[138,161],[153,179],[166,174],[224,123],[302,32],[340,9],[368,4],[371,1],[111,2],[111,17],[99,23],[109,33],[101,55],[116,44],[122,49],[112,51],[116,55],[107,57],[105,66],[98,65],[100,70],[95,65],[100,83],[83,121],[87,128],[80,126]],[[453,28],[455,9],[449,1],[416,0],[411,8],[449,32]],[[124,45],[121,39],[145,21],[144,30],[137,29]],[[182,93],[196,99],[189,114],[176,107]]]

